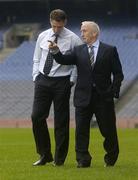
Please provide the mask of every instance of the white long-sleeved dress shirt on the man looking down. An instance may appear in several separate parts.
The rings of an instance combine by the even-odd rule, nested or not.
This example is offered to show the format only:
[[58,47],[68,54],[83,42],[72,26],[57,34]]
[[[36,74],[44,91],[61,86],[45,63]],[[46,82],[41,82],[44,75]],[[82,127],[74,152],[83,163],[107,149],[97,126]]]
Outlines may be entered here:
[[[48,40],[53,41],[54,38],[55,37],[52,28],[43,31],[38,36],[34,51],[34,57],[33,57],[33,73],[32,73],[33,81],[35,81],[35,78],[39,73],[44,74],[43,69],[49,51]],[[82,41],[75,33],[64,27],[58,36],[57,44],[60,51],[63,54],[65,54],[67,51],[73,50],[75,46],[82,44]],[[68,75],[71,75],[70,81],[73,82],[76,81],[77,78],[76,66],[61,65],[54,60],[52,69],[48,76],[60,77],[60,76],[68,76]]]

